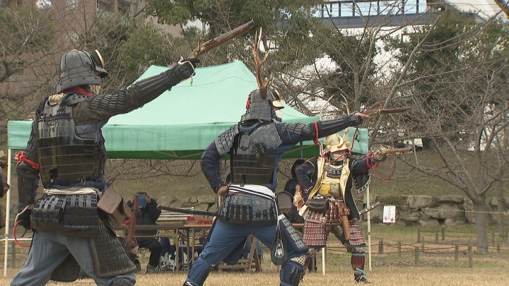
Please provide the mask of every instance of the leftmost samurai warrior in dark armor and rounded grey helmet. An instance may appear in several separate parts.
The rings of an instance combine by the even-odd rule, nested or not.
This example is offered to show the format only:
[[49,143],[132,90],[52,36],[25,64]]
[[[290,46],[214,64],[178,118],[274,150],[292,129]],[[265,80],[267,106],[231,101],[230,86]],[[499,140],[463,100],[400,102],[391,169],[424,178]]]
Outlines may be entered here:
[[[98,95],[108,74],[100,53],[75,49],[62,56],[56,93],[37,107],[27,147],[18,154],[16,225],[34,233],[11,285],[71,282],[80,268],[97,285],[134,285],[136,266],[97,206],[107,189],[101,128],[192,76],[197,63],[182,60],[130,88]],[[36,199],[39,181],[44,194]]]

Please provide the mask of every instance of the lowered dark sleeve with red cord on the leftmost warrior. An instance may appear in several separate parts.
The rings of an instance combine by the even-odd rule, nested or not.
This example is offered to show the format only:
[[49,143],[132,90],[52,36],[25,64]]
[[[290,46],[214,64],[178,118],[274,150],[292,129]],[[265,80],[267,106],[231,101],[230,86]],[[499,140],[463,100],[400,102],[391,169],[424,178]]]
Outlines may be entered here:
[[[23,154],[26,160],[37,163],[37,146],[35,144],[34,130],[32,129]],[[35,202],[37,186],[39,184],[39,169],[30,165],[25,160],[19,160],[16,172],[18,173],[18,208],[21,210],[26,205]]]

